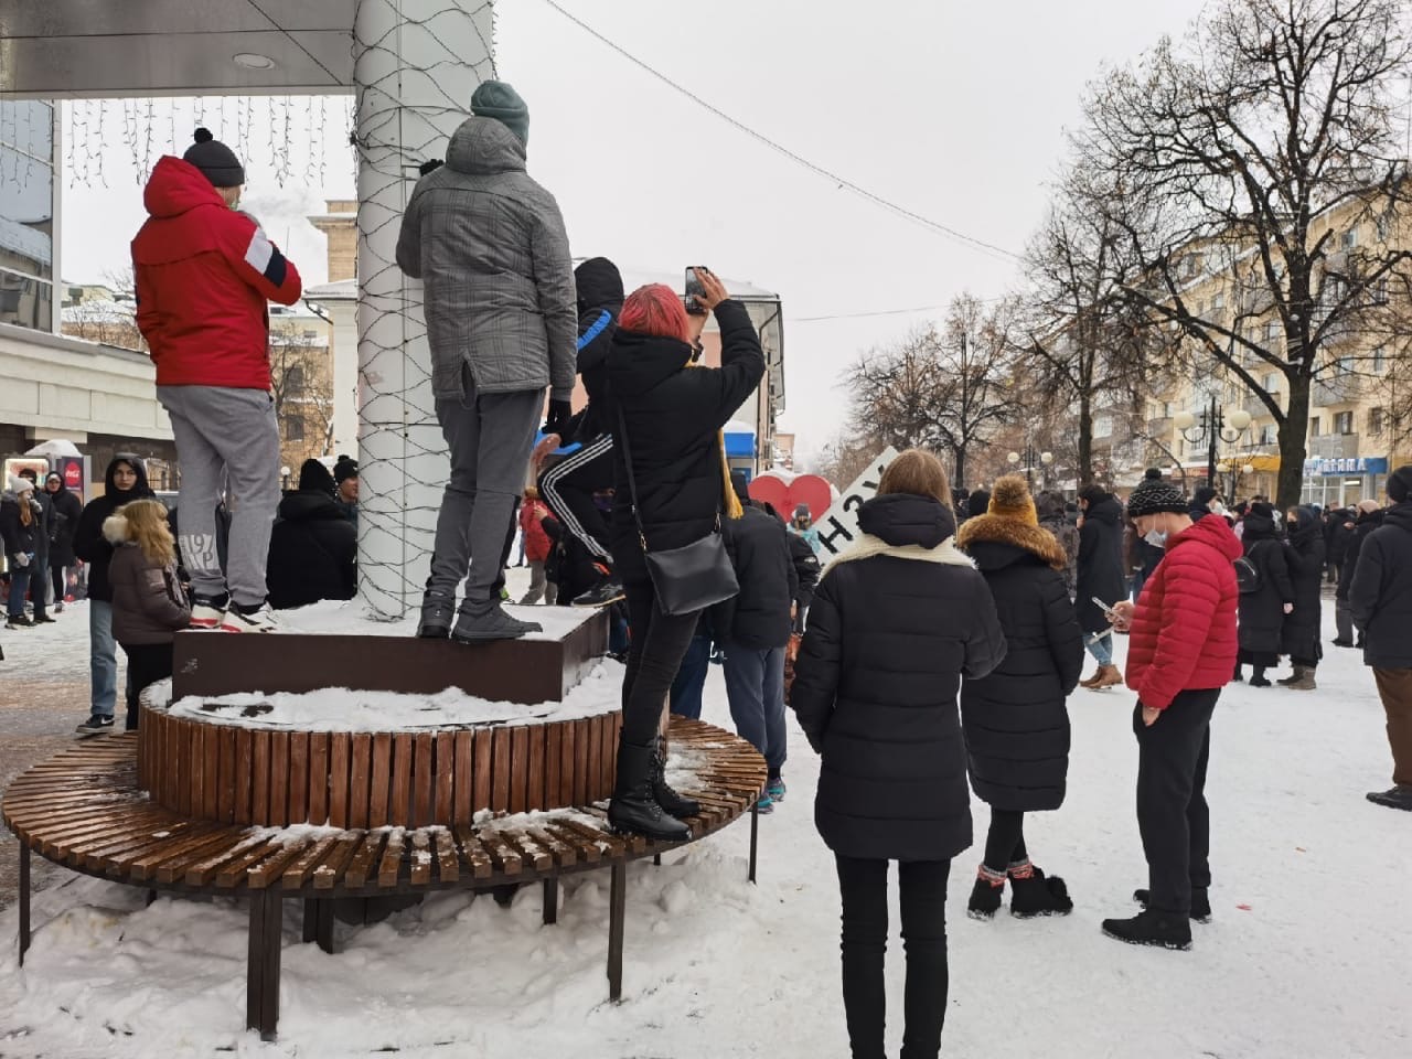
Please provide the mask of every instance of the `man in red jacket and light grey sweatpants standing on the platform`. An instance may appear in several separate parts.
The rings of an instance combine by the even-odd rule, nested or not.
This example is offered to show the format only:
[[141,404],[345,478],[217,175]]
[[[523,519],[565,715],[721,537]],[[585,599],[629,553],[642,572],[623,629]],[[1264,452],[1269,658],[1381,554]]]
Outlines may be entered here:
[[[178,544],[192,579],[191,624],[264,633],[265,561],[280,504],[280,426],[270,394],[268,302],[294,305],[299,273],[236,209],[246,182],[234,152],[205,128],[182,158],[164,155],[133,240],[137,326],[157,366],[181,463]],[[229,487],[226,572],[216,504]]]

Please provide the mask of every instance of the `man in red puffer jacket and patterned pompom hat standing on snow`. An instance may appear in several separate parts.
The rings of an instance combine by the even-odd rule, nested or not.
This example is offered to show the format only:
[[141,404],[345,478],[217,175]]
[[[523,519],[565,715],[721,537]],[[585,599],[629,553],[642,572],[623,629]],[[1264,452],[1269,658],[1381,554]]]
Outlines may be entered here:
[[1236,671],[1234,562],[1240,541],[1219,515],[1193,522],[1180,490],[1145,479],[1128,497],[1144,538],[1166,549],[1137,606],[1114,606],[1128,637],[1127,683],[1138,695],[1138,830],[1148,888],[1132,897],[1144,911],[1104,919],[1103,932],[1130,945],[1192,946],[1192,919],[1211,914],[1210,812],[1206,762],[1211,712]]

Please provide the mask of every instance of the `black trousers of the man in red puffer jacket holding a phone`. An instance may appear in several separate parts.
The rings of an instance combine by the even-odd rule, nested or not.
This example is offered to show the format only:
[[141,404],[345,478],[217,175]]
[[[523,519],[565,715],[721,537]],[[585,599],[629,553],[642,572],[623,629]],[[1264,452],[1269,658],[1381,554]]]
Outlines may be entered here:
[[1220,689],[1180,692],[1152,727],[1142,703],[1132,712],[1138,737],[1138,830],[1148,861],[1149,907],[1190,915],[1192,887],[1211,884],[1206,762],[1211,712]]

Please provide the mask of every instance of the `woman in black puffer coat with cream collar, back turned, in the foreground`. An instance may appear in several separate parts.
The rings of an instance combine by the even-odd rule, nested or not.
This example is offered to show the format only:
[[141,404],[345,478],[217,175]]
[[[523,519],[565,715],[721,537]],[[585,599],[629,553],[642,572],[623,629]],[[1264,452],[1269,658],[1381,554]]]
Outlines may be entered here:
[[946,878],[971,844],[956,693],[1005,657],[986,579],[952,545],[946,472],[904,452],[819,582],[789,705],[823,755],[815,823],[843,897],[853,1055],[882,1055],[888,861],[907,945],[902,1055],[935,1056],[946,1014]]

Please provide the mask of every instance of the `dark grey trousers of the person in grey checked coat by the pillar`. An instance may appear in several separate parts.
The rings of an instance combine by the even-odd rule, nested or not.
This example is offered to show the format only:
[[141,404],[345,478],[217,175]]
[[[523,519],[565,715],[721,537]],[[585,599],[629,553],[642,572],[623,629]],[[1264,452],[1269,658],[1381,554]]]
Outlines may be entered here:
[[481,603],[500,578],[505,527],[525,487],[544,390],[477,394],[470,371],[465,371],[463,384],[463,398],[436,398],[450,480],[436,515],[426,594],[455,599],[469,570],[466,600]]

